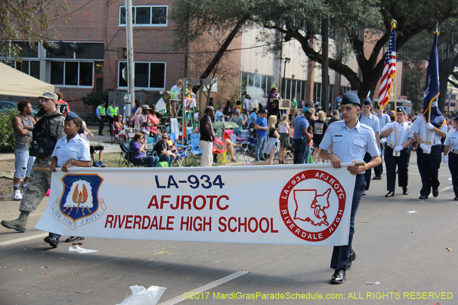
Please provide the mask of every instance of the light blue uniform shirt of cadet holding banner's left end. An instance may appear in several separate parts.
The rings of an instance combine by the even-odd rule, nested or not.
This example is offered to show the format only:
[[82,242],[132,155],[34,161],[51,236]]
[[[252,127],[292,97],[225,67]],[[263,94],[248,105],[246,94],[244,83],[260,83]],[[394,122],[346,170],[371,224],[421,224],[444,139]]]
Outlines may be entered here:
[[78,134],[67,142],[67,136],[60,138],[54,146],[51,157],[56,157],[58,163],[56,167],[62,167],[69,160],[91,161],[88,142],[83,140]]

